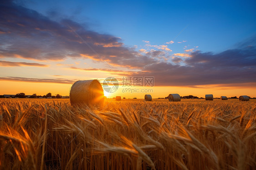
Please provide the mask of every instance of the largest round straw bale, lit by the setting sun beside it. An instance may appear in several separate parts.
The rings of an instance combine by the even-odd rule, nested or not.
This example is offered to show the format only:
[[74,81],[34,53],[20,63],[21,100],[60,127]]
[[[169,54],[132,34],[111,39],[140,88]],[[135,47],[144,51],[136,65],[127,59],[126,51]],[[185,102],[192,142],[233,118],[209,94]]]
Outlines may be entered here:
[[104,93],[98,80],[75,82],[69,94],[71,105],[102,105]]

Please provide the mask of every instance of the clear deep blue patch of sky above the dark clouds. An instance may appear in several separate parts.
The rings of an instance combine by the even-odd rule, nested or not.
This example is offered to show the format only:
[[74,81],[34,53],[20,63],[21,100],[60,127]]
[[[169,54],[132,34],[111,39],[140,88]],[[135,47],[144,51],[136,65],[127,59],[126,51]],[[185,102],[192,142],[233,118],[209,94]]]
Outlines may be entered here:
[[143,47],[142,40],[162,45],[175,37],[174,42],[186,41],[169,45],[174,53],[185,45],[220,52],[256,35],[254,0],[46,0],[23,4],[52,19],[70,18],[99,33],[121,37],[127,46]]

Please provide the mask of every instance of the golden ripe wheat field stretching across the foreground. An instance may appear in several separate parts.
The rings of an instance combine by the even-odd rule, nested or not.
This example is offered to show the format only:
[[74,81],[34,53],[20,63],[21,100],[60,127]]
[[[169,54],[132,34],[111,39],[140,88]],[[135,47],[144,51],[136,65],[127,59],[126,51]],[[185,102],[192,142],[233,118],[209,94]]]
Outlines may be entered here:
[[253,170],[256,100],[0,100],[0,169]]

